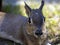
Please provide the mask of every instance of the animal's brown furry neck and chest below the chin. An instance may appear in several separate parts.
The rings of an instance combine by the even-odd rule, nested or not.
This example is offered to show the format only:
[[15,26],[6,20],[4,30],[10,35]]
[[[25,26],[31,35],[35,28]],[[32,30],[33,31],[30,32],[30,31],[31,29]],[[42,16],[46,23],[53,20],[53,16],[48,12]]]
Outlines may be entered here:
[[29,35],[25,32],[26,35],[24,35],[25,38],[25,44],[26,45],[45,45],[47,38],[36,38],[33,35]]

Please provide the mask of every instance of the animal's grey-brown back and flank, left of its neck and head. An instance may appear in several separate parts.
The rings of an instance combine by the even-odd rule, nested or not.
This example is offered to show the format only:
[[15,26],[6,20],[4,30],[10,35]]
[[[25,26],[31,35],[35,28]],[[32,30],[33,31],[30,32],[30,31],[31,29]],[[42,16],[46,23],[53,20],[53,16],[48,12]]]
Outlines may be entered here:
[[0,12],[0,37],[18,38],[26,21],[24,16]]

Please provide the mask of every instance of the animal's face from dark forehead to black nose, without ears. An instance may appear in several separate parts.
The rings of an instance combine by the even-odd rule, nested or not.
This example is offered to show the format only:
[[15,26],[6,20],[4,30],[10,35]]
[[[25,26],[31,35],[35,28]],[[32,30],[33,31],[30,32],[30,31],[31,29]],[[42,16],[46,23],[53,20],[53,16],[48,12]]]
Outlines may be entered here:
[[30,15],[26,26],[27,33],[34,36],[41,36],[44,31],[45,17],[38,9],[32,10]]

